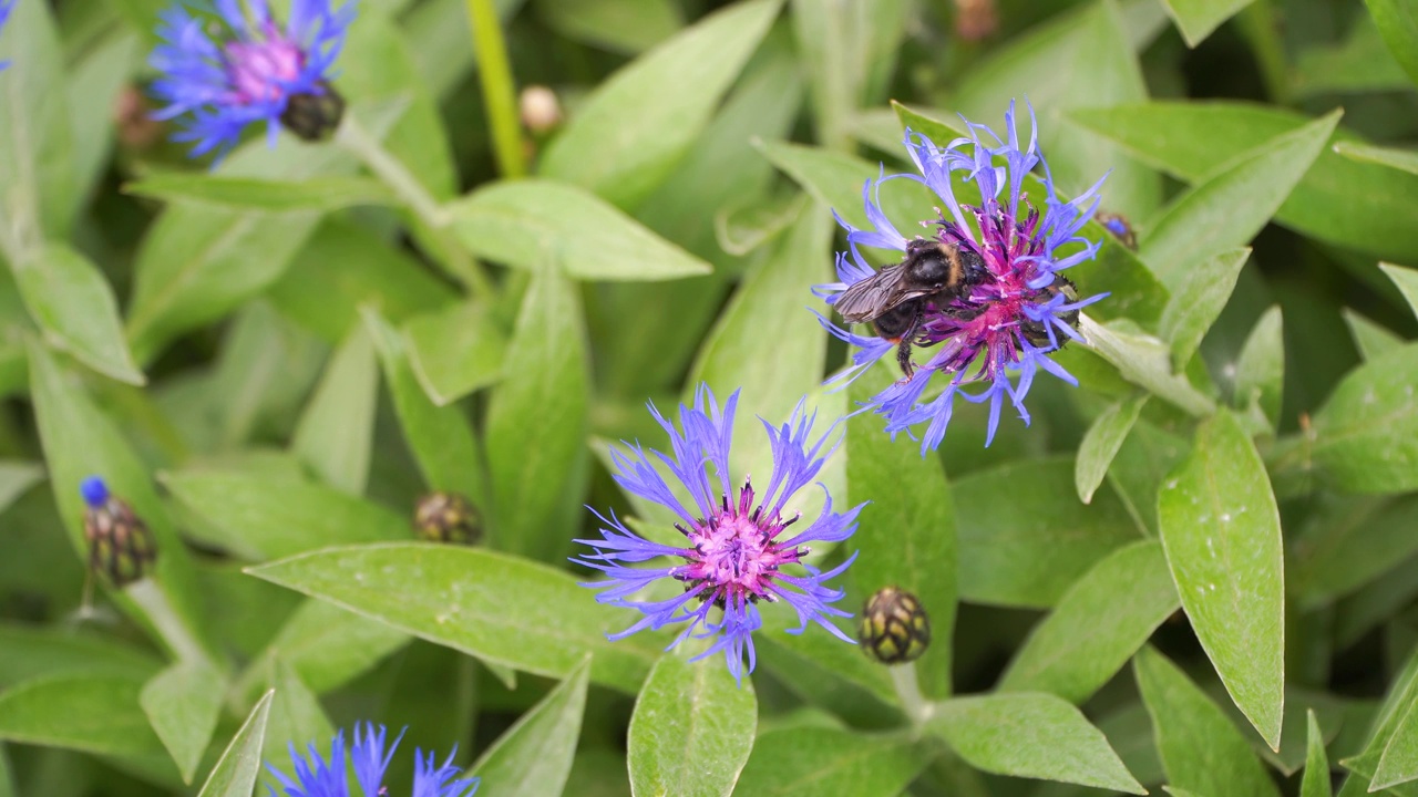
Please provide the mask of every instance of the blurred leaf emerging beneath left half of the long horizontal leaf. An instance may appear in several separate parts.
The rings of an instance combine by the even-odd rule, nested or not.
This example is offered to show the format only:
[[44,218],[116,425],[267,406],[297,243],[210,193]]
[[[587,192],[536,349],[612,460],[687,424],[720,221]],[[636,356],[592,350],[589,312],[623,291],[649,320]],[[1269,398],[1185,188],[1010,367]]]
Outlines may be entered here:
[[237,693],[255,698],[279,658],[323,695],[367,672],[408,644],[408,634],[319,600],[306,600],[281,625],[259,661],[252,662]]

